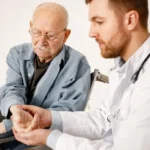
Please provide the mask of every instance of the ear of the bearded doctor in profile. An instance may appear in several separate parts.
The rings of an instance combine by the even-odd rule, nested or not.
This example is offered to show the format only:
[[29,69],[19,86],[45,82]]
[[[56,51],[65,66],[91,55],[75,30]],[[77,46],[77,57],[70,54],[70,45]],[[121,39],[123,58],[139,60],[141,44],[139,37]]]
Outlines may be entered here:
[[139,23],[138,12],[132,10],[125,15],[125,24],[127,30],[134,30],[138,23]]

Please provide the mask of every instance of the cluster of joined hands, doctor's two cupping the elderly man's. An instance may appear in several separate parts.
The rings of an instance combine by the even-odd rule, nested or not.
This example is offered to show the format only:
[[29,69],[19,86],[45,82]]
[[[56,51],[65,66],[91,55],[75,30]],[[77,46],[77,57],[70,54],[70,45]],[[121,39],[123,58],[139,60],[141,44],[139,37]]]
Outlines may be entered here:
[[32,105],[13,105],[12,113],[13,133],[15,138],[26,145],[45,145],[51,126],[51,112]]

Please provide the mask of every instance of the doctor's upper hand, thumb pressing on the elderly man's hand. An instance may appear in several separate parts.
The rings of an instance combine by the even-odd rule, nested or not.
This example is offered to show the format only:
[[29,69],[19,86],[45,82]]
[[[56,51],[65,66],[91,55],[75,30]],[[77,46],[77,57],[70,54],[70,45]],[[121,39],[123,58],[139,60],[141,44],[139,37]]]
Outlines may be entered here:
[[18,107],[34,117],[32,125],[28,128],[28,131],[34,130],[35,128],[46,128],[51,126],[52,116],[50,110],[34,105],[19,105]]

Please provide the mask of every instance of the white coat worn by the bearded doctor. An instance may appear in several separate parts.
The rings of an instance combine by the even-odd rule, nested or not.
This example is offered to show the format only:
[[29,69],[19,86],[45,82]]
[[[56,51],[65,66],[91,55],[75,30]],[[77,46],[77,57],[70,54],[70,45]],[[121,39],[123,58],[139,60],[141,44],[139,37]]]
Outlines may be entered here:
[[150,58],[133,83],[149,53],[150,38],[125,64],[116,59],[109,96],[99,110],[52,112],[60,118],[52,126],[61,122],[62,132],[53,130],[47,145],[55,150],[150,150]]

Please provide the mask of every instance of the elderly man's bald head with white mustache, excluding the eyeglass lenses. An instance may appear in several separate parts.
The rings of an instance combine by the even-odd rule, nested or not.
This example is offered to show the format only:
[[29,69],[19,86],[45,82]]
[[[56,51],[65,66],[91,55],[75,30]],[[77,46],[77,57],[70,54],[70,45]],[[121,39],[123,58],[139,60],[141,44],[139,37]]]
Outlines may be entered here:
[[[41,62],[51,61],[61,51],[70,35],[67,25],[68,13],[63,6],[49,2],[36,8],[30,22],[30,31],[40,33],[38,37],[32,36],[34,33],[31,34],[31,37],[34,52]],[[49,40],[47,33],[56,35],[56,38]]]

